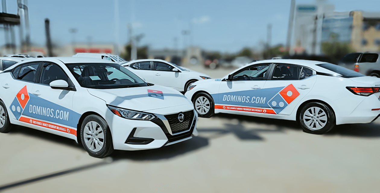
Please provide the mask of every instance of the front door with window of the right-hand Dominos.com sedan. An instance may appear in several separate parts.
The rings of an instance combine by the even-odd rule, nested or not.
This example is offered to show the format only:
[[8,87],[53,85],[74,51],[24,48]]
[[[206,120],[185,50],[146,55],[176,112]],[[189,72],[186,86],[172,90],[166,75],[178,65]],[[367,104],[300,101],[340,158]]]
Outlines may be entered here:
[[241,111],[245,111],[244,114],[262,113],[268,100],[268,96],[262,90],[268,78],[270,66],[269,63],[247,66],[235,72],[230,81],[222,81],[218,95],[212,95],[215,109],[227,113]]

